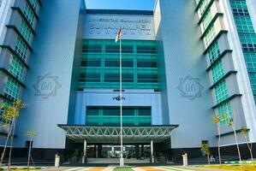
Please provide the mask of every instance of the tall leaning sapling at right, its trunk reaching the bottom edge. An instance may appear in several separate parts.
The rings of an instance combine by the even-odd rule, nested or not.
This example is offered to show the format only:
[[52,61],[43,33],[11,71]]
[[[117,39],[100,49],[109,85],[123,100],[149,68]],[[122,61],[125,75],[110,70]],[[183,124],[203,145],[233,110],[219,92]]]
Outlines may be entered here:
[[241,152],[240,152],[240,148],[239,148],[239,144],[238,144],[238,140],[237,140],[237,135],[236,135],[236,130],[235,130],[235,111],[233,112],[233,115],[234,115],[234,119],[232,118],[232,116],[228,115],[227,113],[223,113],[222,117],[223,117],[223,121],[226,123],[226,125],[228,127],[232,127],[232,129],[233,129],[234,136],[235,136],[236,149],[237,149],[237,152],[238,152],[240,167],[241,167],[241,170],[242,170],[243,167],[242,167],[242,162],[241,162]]

